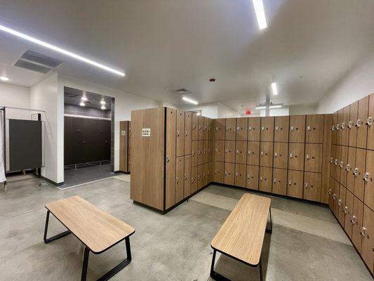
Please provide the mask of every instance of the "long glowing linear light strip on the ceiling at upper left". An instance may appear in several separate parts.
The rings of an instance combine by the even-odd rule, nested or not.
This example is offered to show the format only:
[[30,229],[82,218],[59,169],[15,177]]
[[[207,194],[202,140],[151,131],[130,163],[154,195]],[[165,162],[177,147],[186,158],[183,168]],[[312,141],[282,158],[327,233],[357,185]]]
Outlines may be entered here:
[[107,70],[107,71],[112,72],[114,74],[117,74],[119,76],[125,76],[125,74],[123,72],[120,72],[118,70],[114,70],[113,68],[107,67],[106,65],[102,65],[101,63],[96,63],[93,60],[90,60],[88,58],[84,58],[81,55],[77,55],[76,53],[72,53],[72,52],[66,51],[63,48],[59,48],[58,46],[53,46],[51,44],[48,44],[48,43],[46,43],[44,41],[41,41],[41,40],[36,39],[34,37],[31,37],[29,35],[26,35],[26,34],[23,34],[21,32],[12,30],[11,28],[5,27],[4,25],[0,25],[0,30],[2,30],[4,32],[7,32],[9,34],[13,34],[16,37],[20,37],[20,38],[25,39],[27,41],[30,41],[30,42],[32,42],[34,44],[38,44],[40,46],[44,46],[44,47],[49,48],[49,49],[51,49],[53,51],[56,51],[58,53],[62,53],[62,54],[67,55],[69,57],[75,58],[76,60],[81,60],[84,63],[88,63],[89,65],[93,65],[95,67],[101,68],[102,70]]

